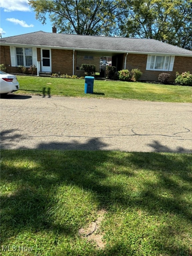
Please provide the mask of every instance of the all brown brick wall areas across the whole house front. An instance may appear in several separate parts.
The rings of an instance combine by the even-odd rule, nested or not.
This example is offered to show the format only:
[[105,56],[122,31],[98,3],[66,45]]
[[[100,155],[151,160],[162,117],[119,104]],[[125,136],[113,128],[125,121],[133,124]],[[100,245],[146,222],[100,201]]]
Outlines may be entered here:
[[[98,63],[96,71],[99,72],[99,60],[100,57],[94,57],[94,60],[85,60],[84,56],[76,56],[75,52],[75,61],[74,61],[74,69],[80,66],[80,61],[84,62],[82,64],[94,64],[94,61]],[[116,66],[116,58],[118,58],[117,70],[124,69],[126,54],[121,54],[114,56],[112,58],[112,65]],[[37,60],[41,62],[41,48],[37,48]],[[73,74],[73,51],[72,50],[58,50],[51,49],[51,60],[52,60],[52,73],[60,74]],[[85,63],[87,61],[88,63]],[[1,46],[0,48],[0,64],[6,65],[6,72],[18,72],[17,67],[11,67],[11,56],[10,56],[10,47],[9,46]],[[10,65],[10,66],[9,66]],[[175,56],[173,71],[151,71],[146,70],[147,65],[147,54],[131,54],[127,55],[126,61],[126,69],[130,70],[133,68],[138,68],[143,72],[141,76],[141,80],[149,80],[149,81],[158,81],[158,76],[160,73],[169,73],[171,74],[169,81],[173,82],[175,80],[176,72],[182,73],[185,71],[190,71],[192,74],[192,57],[181,57]]]

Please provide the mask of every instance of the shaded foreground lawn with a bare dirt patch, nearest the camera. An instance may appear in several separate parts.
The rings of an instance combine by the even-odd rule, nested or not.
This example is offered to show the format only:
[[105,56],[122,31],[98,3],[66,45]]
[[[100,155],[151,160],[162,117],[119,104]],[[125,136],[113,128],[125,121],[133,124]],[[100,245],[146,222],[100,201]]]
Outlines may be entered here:
[[191,154],[1,150],[2,255],[191,256],[191,219]]

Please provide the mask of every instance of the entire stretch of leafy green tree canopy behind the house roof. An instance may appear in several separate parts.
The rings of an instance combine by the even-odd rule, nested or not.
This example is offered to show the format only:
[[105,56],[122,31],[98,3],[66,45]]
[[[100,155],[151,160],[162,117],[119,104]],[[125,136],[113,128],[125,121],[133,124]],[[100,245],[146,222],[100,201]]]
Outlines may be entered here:
[[29,0],[60,33],[151,38],[192,50],[192,0]]

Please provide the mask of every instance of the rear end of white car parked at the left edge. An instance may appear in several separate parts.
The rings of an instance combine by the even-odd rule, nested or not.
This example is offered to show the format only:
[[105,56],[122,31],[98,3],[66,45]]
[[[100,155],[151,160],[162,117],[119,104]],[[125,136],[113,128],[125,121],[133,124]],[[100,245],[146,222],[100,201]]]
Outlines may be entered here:
[[17,77],[0,70],[0,93],[15,92],[17,90],[19,90]]

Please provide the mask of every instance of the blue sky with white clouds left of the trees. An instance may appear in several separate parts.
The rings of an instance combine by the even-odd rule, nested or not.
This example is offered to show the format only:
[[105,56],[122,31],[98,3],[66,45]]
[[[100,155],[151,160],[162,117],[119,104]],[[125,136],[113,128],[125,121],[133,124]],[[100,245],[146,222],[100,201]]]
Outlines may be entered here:
[[41,24],[35,19],[35,12],[28,5],[28,0],[0,1],[0,33],[2,37],[21,35],[35,31],[52,32],[49,19]]

